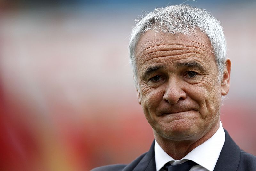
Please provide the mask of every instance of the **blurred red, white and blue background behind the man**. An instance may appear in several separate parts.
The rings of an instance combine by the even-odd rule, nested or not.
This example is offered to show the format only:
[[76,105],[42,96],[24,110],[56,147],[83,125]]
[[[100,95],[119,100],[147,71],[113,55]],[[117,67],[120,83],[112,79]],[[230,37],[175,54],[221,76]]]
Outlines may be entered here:
[[[151,127],[129,65],[135,19],[184,0],[0,1],[0,170],[130,163]],[[232,61],[221,120],[256,155],[255,1],[188,1],[217,18]]]

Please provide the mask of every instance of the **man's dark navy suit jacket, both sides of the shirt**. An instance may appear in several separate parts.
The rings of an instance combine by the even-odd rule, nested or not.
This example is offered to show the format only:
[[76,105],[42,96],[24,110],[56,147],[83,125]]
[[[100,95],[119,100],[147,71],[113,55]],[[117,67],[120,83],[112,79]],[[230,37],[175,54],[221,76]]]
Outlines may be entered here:
[[[214,171],[256,171],[256,156],[241,150],[225,131],[225,142]],[[132,163],[97,167],[92,171],[156,171],[155,141],[150,150],[132,161]],[[209,147],[211,148],[211,147]]]

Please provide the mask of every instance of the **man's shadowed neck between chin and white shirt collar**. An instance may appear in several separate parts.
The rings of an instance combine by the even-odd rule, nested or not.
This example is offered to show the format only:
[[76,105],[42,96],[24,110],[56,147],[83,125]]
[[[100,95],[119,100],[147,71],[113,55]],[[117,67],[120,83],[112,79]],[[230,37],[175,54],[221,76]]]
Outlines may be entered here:
[[190,140],[182,140],[182,141],[174,141],[171,139],[167,139],[156,133],[154,130],[154,136],[157,143],[162,147],[162,149],[173,159],[180,160],[185,157],[189,152],[191,152],[194,148],[204,143],[206,140],[211,138],[215,132],[219,129],[220,124],[211,128],[210,131],[204,133],[204,135],[200,138],[190,139]]

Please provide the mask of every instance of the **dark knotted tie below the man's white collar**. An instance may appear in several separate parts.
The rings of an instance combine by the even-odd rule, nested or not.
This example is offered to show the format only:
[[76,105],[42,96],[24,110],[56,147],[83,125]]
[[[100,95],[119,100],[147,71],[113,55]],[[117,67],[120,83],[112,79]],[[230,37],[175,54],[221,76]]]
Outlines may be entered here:
[[188,160],[184,163],[177,164],[177,165],[170,165],[170,163],[166,163],[163,167],[163,169],[168,170],[168,171],[189,171],[191,167],[194,165],[198,165],[194,161]]

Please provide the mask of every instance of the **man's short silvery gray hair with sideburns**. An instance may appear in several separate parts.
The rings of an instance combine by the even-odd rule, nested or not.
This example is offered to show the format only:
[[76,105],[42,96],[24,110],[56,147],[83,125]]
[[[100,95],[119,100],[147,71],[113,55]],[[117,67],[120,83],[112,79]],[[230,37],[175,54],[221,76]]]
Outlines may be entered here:
[[220,82],[225,70],[226,40],[219,21],[207,11],[199,8],[188,5],[172,5],[165,8],[156,8],[153,12],[139,19],[132,29],[129,50],[136,88],[139,89],[135,51],[138,41],[146,31],[154,30],[155,32],[168,34],[190,35],[196,33],[197,29],[206,34],[211,42]]

